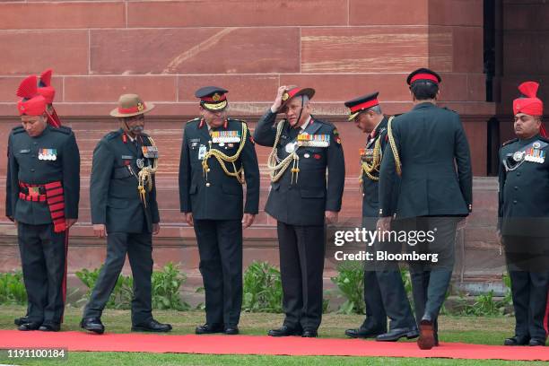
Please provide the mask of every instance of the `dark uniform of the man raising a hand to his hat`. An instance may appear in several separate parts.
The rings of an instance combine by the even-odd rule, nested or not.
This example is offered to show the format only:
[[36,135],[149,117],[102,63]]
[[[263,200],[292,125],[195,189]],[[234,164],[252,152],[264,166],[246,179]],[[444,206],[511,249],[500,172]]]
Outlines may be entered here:
[[[254,139],[273,146],[277,126],[270,109],[259,119]],[[341,140],[330,123],[311,116],[302,134],[317,135],[324,146],[299,143],[300,128],[283,122],[277,156],[283,161],[291,152],[299,157],[299,173],[288,167],[272,182],[266,213],[277,220],[280,267],[283,283],[283,325],[315,331],[322,318],[322,274],[325,255],[325,212],[339,212],[344,191],[345,163]],[[327,142],[327,144],[326,144]],[[327,175],[328,171],[328,175]]]

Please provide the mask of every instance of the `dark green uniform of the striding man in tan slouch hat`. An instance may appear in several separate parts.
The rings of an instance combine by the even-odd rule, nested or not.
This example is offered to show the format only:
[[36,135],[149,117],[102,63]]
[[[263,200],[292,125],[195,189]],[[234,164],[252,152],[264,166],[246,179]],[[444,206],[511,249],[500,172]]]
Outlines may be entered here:
[[[83,318],[100,318],[124,266],[126,254],[134,278],[132,323],[153,318],[151,275],[153,273],[153,223],[160,222],[156,185],[146,191],[144,201],[138,193],[139,165],[152,166],[144,157],[151,146],[148,135],[132,141],[122,129],[103,137],[93,151],[90,203],[92,223],[107,228],[107,258],[93,288]],[[145,146],[145,148],[143,148]],[[138,160],[140,160],[138,162]]]

